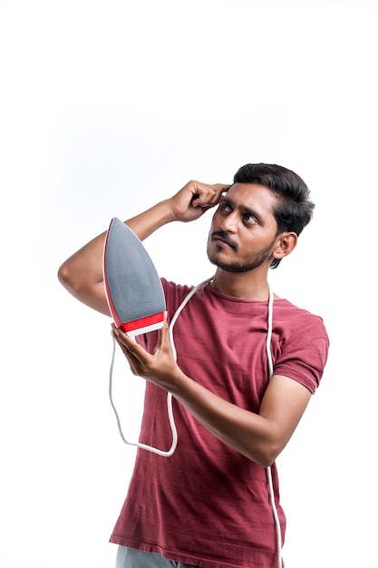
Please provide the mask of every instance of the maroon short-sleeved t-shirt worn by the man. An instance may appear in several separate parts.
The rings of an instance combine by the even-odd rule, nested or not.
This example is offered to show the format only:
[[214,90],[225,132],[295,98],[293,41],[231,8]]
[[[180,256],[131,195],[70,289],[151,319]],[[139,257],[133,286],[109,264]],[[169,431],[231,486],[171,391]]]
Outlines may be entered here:
[[[162,280],[169,318],[190,287]],[[267,301],[237,299],[209,285],[189,299],[173,329],[182,371],[219,397],[258,413],[268,382]],[[138,338],[150,351],[157,332]],[[323,320],[286,299],[273,305],[274,372],[311,393],[328,352]],[[276,528],[267,471],[220,442],[173,400],[177,449],[138,449],[111,542],[205,568],[276,568]],[[140,441],[169,450],[167,393],[146,383]],[[276,465],[271,466],[283,539]]]

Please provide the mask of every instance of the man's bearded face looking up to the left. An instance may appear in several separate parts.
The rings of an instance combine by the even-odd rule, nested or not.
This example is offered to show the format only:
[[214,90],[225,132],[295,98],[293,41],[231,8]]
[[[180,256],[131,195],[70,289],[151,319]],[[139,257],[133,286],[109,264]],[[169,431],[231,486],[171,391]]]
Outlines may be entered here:
[[247,272],[272,260],[276,196],[264,185],[234,183],[220,198],[208,234],[208,260],[229,272]]

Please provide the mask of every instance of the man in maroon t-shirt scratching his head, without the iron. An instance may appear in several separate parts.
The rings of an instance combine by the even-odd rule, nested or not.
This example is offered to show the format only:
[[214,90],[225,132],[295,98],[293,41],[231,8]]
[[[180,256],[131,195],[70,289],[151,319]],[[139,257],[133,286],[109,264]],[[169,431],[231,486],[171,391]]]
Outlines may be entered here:
[[[170,447],[167,392],[179,435],[170,457],[138,450],[111,534],[117,568],[283,565],[275,460],[315,393],[329,342],[321,318],[272,295],[267,273],[295,249],[314,203],[295,172],[247,164],[231,186],[190,181],[126,222],[143,240],[214,206],[208,259],[217,268],[177,318],[177,357],[169,322],[193,287],[162,279],[168,315],[160,331],[135,341],[113,325],[132,373],[146,379],[141,443],[159,437]],[[73,254],[58,276],[75,298],[110,315],[104,237]]]

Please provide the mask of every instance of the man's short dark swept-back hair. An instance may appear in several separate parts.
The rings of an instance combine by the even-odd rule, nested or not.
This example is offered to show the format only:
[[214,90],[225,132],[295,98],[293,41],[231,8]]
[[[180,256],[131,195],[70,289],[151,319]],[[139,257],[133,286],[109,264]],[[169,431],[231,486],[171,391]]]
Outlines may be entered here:
[[[277,235],[293,231],[299,236],[312,219],[315,204],[309,200],[305,181],[294,171],[274,163],[247,163],[237,170],[234,183],[259,183],[276,194]],[[272,260],[270,268],[276,269],[279,263],[280,259]]]

